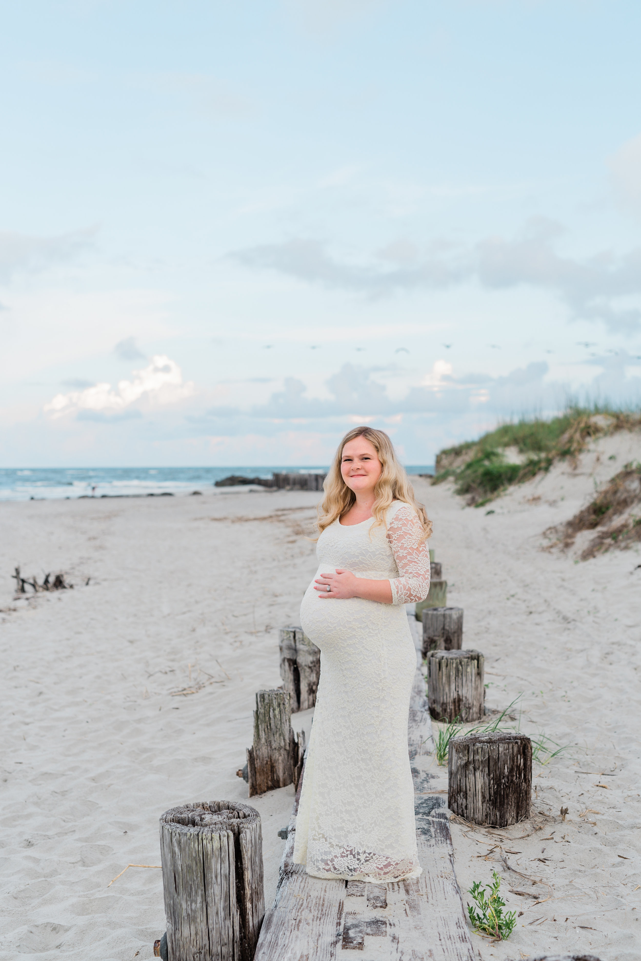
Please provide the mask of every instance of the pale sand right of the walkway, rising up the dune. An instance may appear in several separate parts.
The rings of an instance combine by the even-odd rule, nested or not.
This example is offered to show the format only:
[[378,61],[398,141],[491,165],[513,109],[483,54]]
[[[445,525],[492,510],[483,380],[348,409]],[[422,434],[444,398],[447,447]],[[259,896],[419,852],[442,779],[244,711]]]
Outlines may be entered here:
[[[576,470],[558,463],[481,508],[463,507],[451,484],[415,484],[435,518],[431,546],[449,581],[448,604],[464,609],[463,647],[486,654],[487,706],[520,695],[521,729],[568,746],[548,765],[534,764],[527,830],[495,837],[452,822],[463,892],[496,868],[508,906],[523,912],[508,942],[478,939],[483,958],[578,949],[604,961],[641,956],[641,550],[585,562],[542,550],[542,532],[632,459],[641,459],[638,432],[606,437]],[[561,807],[569,809],[564,822]],[[533,827],[540,829],[523,838]],[[516,852],[505,854],[513,871],[500,849]],[[509,888],[549,899],[536,903]]]

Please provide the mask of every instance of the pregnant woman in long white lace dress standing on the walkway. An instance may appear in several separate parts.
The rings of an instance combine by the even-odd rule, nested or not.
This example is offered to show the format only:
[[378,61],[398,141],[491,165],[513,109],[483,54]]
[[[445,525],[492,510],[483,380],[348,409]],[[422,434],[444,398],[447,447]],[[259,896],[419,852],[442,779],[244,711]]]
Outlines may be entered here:
[[346,433],[324,490],[319,570],[300,607],[321,649],[321,683],[294,860],[315,877],[399,881],[421,872],[407,745],[416,653],[404,604],[427,596],[432,525],[383,431]]

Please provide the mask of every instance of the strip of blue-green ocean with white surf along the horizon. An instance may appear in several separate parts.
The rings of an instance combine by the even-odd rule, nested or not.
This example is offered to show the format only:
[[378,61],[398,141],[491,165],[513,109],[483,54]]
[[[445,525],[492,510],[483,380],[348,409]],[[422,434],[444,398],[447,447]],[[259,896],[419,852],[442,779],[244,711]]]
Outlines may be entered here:
[[[274,472],[324,473],[326,467],[32,467],[0,468],[0,501],[50,500],[74,497],[146,497],[149,494],[191,494],[214,487],[230,474],[271,478]],[[433,467],[408,466],[410,474],[432,473]]]

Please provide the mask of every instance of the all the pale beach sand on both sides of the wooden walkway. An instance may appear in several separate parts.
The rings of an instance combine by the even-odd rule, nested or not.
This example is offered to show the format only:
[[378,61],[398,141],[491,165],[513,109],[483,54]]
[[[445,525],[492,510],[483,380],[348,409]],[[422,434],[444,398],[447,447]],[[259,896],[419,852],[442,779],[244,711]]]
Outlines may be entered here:
[[[641,456],[638,434],[598,443],[599,480],[632,459],[630,444]],[[633,891],[641,885],[641,552],[575,563],[539,549],[542,531],[593,490],[596,457],[480,509],[463,509],[449,485],[416,482],[435,521],[431,546],[448,601],[465,610],[464,646],[486,654],[488,706],[523,692],[522,729],[571,746],[534,765],[534,811],[544,813],[503,834],[542,830],[498,842],[520,852],[507,855],[510,865],[551,897],[536,905],[508,894],[524,914],[505,945],[474,936],[484,959],[570,949],[603,961],[641,956],[641,887]],[[316,570],[301,531],[317,498],[230,492],[0,504],[0,958],[152,956],[165,929],[160,871],[131,868],[107,884],[130,862],[159,863],[157,819],[166,808],[247,799],[235,772],[251,740],[254,692],[280,683],[277,628],[297,623]],[[13,602],[16,563],[23,575],[65,570],[76,587]],[[202,681],[211,683],[170,696]],[[295,719],[308,727],[309,712]],[[436,764],[435,773],[446,782]],[[283,846],[276,831],[292,798],[284,788],[251,801],[263,819],[268,901]],[[569,808],[563,824],[561,805]],[[600,813],[580,818],[587,808]],[[453,822],[452,833],[463,891],[489,880],[492,867],[502,869],[506,892],[532,890],[492,862],[498,849],[484,859],[494,844],[484,832]],[[538,857],[551,860],[531,860]]]

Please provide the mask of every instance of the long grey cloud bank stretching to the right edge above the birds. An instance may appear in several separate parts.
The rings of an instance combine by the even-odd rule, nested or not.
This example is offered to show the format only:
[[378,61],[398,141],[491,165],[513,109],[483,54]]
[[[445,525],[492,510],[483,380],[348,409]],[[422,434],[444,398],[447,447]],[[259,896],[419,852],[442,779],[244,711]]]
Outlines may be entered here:
[[[639,151],[641,156],[641,144]],[[639,183],[641,191],[641,174]],[[227,256],[249,268],[276,270],[305,283],[371,297],[470,282],[494,290],[527,285],[556,295],[572,320],[602,321],[615,333],[641,329],[641,248],[627,254],[603,250],[584,259],[564,257],[555,249],[563,233],[558,223],[539,217],[514,237],[486,237],[467,248],[439,240],[420,255],[406,242],[366,260],[339,259],[320,241],[299,237]]]

